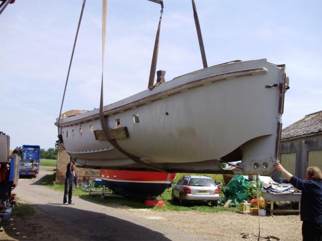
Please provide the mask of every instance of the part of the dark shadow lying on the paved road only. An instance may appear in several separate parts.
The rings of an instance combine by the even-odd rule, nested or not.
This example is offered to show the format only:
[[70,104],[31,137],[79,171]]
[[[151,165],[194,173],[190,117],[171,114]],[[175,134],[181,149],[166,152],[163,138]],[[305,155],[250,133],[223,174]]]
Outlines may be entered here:
[[[89,205],[91,205],[89,203]],[[77,209],[72,205],[38,205],[51,217],[64,220],[66,229],[85,240],[155,240],[167,241],[163,233],[104,213]],[[64,230],[61,230],[62,232]]]

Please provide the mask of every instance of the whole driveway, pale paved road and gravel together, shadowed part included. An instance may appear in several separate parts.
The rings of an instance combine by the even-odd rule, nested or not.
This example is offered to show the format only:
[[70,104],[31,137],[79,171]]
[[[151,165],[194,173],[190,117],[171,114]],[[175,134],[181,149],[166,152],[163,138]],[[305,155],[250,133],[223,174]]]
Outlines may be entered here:
[[[64,206],[62,193],[37,179],[21,179],[17,196],[36,205],[28,218],[13,217],[0,231],[0,240],[245,240],[240,233],[258,233],[259,217],[234,212],[154,211],[105,206],[75,197]],[[300,241],[299,215],[260,217],[261,236]],[[257,240],[251,236],[248,240]],[[267,240],[267,239],[261,239]],[[274,239],[272,239],[274,240]]]

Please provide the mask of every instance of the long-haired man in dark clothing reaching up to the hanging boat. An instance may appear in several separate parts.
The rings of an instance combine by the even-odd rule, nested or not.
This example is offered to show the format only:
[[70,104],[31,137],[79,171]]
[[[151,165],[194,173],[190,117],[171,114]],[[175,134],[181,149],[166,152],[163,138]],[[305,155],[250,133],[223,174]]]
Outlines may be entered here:
[[317,167],[306,169],[305,179],[299,179],[286,171],[280,163],[274,168],[294,187],[302,191],[301,220],[303,241],[322,241],[322,172]]

